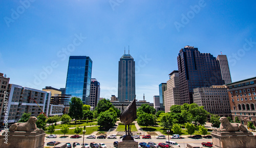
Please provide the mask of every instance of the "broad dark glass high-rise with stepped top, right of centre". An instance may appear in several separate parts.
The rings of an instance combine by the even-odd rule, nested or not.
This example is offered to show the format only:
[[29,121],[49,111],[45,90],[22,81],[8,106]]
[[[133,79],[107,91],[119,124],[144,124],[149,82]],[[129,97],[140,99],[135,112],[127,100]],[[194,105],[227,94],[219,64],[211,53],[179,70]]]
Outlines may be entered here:
[[193,103],[193,89],[225,84],[220,63],[211,54],[200,53],[194,46],[185,46],[177,57],[179,90],[182,104]]

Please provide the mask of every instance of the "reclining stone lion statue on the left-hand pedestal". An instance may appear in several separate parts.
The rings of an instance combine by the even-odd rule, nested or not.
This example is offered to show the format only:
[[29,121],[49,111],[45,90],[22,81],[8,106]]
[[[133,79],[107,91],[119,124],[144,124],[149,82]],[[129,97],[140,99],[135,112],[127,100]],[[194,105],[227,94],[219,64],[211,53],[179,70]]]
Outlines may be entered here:
[[42,129],[36,128],[35,122],[37,121],[36,117],[30,117],[27,122],[20,122],[11,125],[9,131],[25,131],[25,132],[34,132],[34,131],[42,131]]

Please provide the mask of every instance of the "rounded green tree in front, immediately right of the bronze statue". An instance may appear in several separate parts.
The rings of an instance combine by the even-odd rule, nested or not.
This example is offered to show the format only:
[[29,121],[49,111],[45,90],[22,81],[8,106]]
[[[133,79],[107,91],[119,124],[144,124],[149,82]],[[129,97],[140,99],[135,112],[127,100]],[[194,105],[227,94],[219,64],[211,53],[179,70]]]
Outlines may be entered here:
[[148,126],[154,125],[154,117],[152,114],[143,113],[137,118],[138,125],[140,126]]

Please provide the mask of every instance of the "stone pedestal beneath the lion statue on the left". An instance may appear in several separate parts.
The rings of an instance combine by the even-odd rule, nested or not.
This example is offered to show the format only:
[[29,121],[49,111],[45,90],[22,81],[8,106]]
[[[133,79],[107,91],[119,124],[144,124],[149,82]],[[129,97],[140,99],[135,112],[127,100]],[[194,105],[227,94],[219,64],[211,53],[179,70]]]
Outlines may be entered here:
[[8,132],[8,138],[6,141],[6,135],[0,135],[0,147],[1,148],[16,148],[16,147],[28,147],[28,148],[44,148],[45,131],[40,132]]

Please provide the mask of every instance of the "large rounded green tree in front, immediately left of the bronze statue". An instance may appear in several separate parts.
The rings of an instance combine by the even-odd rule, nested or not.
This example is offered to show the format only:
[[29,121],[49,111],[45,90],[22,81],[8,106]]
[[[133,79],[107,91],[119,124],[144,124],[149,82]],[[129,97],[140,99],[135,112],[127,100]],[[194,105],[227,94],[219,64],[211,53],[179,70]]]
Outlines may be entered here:
[[110,129],[116,124],[116,115],[111,111],[101,112],[97,118],[98,125],[104,129]]

